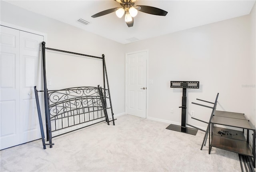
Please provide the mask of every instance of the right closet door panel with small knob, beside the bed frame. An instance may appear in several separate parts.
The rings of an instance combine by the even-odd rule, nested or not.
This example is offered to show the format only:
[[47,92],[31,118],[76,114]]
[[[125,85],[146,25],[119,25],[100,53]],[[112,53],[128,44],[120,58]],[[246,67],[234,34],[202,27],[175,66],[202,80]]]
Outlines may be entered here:
[[41,138],[34,86],[42,85],[42,41],[43,36],[20,31],[20,143]]

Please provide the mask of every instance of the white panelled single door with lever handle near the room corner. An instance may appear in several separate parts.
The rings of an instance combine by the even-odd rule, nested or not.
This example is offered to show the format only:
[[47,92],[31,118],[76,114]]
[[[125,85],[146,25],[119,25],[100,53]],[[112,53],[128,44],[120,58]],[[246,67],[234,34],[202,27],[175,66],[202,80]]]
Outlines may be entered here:
[[147,52],[126,54],[126,113],[146,118]]

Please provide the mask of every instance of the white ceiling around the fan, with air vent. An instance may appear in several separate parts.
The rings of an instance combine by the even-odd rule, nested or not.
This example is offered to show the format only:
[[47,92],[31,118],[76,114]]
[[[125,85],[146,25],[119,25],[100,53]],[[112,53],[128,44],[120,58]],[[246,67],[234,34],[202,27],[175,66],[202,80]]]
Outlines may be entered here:
[[[118,18],[114,12],[98,18],[91,17],[100,11],[120,7],[120,4],[114,0],[6,0],[6,2],[126,44],[250,14],[255,0],[137,0],[135,5],[154,6],[166,10],[168,14],[154,16],[138,12],[134,18],[134,25],[130,28],[124,22],[124,16]],[[90,24],[77,22],[80,18]]]

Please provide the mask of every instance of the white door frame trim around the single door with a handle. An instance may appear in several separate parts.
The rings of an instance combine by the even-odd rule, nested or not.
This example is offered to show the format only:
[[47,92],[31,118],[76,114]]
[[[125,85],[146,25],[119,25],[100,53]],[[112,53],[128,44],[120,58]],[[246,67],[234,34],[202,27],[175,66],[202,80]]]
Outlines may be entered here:
[[135,51],[135,52],[128,52],[125,54],[125,114],[127,114],[127,56],[129,54],[135,54],[135,53],[139,53],[139,52],[146,52],[146,118],[148,116],[148,92],[149,92],[149,89],[148,89],[148,49],[146,50],[140,50],[140,51]]

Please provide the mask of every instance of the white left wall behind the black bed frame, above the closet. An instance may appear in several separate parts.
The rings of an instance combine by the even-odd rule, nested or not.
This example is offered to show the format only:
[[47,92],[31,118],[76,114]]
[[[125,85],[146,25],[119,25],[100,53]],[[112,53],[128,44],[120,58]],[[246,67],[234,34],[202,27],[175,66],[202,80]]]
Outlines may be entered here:
[[[46,33],[46,47],[99,57],[105,54],[113,111],[114,114],[124,113],[124,45],[4,1],[1,1],[0,21]],[[46,66],[47,78],[52,82],[49,90],[97,86],[98,82],[102,82],[98,79],[102,74],[102,63],[97,60],[60,56],[47,51]]]

